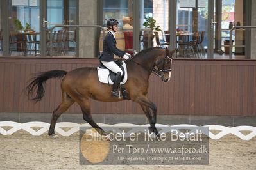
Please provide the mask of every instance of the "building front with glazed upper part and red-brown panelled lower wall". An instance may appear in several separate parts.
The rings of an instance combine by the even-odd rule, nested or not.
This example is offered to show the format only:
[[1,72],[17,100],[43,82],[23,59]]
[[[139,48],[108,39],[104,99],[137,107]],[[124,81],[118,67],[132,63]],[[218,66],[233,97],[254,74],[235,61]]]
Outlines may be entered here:
[[[177,49],[171,82],[149,80],[149,98],[159,114],[256,114],[255,28],[235,29],[228,54],[231,28],[256,25],[255,1],[7,0],[0,5],[0,112],[53,111],[61,100],[60,80],[51,81],[46,99],[35,105],[22,92],[31,74],[97,66],[105,23],[114,17],[120,49],[133,54],[155,46]],[[124,31],[123,17],[130,17],[133,29]],[[150,21],[161,30],[145,24]],[[128,41],[126,32],[132,35]],[[142,113],[132,102],[93,101],[93,106],[94,113]],[[68,112],[80,108],[74,105]]]

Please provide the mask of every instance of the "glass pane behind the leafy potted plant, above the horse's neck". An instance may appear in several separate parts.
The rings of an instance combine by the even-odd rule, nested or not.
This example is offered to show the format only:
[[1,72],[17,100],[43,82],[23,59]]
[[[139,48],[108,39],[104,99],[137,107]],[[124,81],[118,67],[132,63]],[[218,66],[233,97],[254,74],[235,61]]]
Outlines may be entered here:
[[139,49],[167,47],[169,22],[167,0],[144,0],[139,6]]

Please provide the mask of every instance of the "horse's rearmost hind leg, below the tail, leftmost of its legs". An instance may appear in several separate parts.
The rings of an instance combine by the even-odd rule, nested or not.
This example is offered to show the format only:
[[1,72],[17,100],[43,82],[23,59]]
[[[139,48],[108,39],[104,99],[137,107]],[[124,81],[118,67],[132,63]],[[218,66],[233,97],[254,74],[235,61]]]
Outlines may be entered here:
[[62,103],[58,105],[58,107],[53,111],[53,116],[51,118],[51,125],[48,132],[49,135],[55,135],[56,121],[58,120],[58,118],[63,112],[69,109],[69,107],[72,104],[74,104],[74,100],[71,97],[67,96],[66,93],[62,93]]

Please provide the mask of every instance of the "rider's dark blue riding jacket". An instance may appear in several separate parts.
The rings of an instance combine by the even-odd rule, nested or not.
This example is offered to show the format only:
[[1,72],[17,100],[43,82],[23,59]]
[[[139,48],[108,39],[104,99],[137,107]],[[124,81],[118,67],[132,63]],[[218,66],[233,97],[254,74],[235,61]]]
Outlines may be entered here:
[[119,56],[119,58],[123,58],[125,52],[117,49],[114,35],[108,31],[103,41],[103,52],[99,59],[101,61],[115,61],[114,54]]

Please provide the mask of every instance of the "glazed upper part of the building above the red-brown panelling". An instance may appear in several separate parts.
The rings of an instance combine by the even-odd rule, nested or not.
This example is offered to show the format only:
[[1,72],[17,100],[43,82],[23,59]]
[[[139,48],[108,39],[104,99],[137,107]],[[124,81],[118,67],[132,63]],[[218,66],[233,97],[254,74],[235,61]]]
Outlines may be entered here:
[[[169,49],[178,49],[176,58],[255,58],[255,28],[232,31],[232,55],[228,54],[230,28],[255,25],[252,10],[255,1],[8,0],[0,5],[1,56],[96,58],[101,52],[100,29],[56,27],[52,33],[49,31],[62,24],[98,25],[105,29],[105,23],[112,17],[119,20],[120,38],[123,38],[119,42],[124,50],[122,18],[131,17],[134,53],[157,46],[158,38],[160,43],[168,43]],[[146,17],[153,18],[160,30],[145,26]],[[194,47],[186,44],[194,40],[198,40]]]

